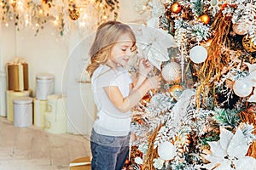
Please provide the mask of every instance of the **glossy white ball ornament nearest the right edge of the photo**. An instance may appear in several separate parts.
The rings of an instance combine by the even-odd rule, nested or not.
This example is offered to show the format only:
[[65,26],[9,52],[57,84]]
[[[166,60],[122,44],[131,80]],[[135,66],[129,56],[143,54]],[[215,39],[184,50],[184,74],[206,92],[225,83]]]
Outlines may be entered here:
[[236,80],[233,85],[233,90],[239,97],[247,97],[253,91],[253,86],[246,78],[241,80]]

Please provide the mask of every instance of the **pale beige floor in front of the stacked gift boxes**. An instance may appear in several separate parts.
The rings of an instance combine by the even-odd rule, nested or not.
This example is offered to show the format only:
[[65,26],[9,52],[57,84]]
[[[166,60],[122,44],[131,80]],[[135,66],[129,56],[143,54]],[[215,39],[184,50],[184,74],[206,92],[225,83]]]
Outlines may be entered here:
[[0,170],[66,170],[83,156],[90,156],[88,137],[14,127],[0,116]]

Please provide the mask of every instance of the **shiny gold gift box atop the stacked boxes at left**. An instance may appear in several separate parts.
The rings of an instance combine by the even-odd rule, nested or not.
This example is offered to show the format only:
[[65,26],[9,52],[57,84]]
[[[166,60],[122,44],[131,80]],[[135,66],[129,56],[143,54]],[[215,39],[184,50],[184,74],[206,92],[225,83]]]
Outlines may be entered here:
[[8,89],[14,91],[28,90],[27,63],[7,64]]

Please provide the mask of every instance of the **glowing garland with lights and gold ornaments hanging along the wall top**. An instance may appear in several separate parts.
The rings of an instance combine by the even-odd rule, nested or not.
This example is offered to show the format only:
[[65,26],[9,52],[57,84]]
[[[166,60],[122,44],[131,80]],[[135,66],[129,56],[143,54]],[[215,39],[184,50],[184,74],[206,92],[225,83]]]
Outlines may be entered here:
[[79,26],[81,32],[89,33],[112,14],[116,17],[118,3],[110,4],[107,0],[3,0],[0,2],[3,10],[0,21],[5,26],[15,21],[17,30],[29,26],[38,32],[38,28],[43,29],[43,25],[49,22],[61,35],[67,33],[72,25]]

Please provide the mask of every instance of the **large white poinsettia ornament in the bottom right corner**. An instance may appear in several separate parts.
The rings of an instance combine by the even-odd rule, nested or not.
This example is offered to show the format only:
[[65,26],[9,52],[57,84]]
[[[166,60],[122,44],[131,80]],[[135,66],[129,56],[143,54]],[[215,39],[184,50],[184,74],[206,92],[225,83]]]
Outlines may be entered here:
[[217,142],[208,142],[212,153],[205,156],[211,163],[204,166],[214,170],[244,170],[256,169],[256,159],[246,156],[249,144],[238,127],[233,134],[224,127],[220,127],[220,139]]

